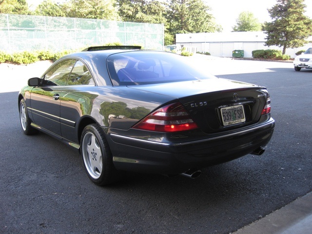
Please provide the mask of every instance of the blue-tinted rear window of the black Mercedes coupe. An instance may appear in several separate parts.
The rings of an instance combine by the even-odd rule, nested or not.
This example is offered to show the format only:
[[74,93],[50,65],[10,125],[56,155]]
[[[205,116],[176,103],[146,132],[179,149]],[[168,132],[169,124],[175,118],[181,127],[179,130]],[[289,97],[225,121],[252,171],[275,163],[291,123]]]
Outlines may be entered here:
[[213,78],[188,64],[186,58],[168,52],[136,51],[108,57],[107,67],[114,85],[155,84]]

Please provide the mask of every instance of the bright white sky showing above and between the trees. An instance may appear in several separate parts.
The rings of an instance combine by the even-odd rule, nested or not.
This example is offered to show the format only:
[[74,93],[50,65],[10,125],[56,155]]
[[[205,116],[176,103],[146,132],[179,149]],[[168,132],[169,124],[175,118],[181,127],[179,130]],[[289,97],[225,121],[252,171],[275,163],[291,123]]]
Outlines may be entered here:
[[[34,7],[42,0],[26,0],[28,5]],[[55,0],[62,2],[64,0]],[[217,24],[223,28],[222,32],[231,32],[236,24],[238,15],[243,11],[250,11],[260,23],[271,21],[268,8],[271,8],[277,2],[276,0],[204,0],[212,8],[211,14],[215,17]],[[312,19],[312,0],[305,0],[305,15]]]

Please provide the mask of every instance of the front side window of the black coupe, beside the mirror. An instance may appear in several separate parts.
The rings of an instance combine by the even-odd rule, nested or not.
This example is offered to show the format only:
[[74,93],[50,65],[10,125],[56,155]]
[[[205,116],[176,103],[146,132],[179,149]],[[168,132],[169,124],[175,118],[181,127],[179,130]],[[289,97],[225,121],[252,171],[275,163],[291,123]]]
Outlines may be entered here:
[[56,64],[44,77],[43,85],[66,85],[75,59],[67,59]]

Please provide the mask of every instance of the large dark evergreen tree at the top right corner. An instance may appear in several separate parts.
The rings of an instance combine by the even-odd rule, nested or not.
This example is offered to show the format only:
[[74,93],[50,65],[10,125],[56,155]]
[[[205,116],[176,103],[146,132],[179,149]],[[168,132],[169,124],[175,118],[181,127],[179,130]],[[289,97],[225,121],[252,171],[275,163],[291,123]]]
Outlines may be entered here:
[[269,9],[272,22],[265,22],[268,34],[265,45],[297,48],[307,43],[305,39],[312,35],[312,20],[304,15],[304,0],[277,0],[277,4]]

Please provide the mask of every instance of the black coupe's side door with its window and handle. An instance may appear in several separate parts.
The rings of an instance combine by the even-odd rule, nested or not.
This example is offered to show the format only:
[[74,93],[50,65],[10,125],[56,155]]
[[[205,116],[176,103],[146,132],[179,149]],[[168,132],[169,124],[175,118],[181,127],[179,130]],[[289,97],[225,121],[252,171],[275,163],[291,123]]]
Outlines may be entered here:
[[60,98],[76,59],[55,64],[43,77],[42,84],[31,92],[31,110],[35,124],[61,136]]

